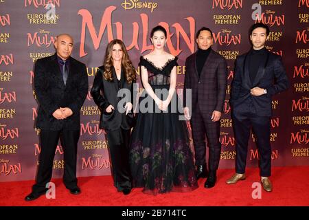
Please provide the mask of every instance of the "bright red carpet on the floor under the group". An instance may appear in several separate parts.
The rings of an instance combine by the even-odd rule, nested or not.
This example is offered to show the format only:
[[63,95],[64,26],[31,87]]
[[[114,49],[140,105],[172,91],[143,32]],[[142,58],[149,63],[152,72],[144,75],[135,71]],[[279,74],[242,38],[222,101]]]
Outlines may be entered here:
[[165,195],[145,195],[135,188],[124,196],[113,187],[111,176],[79,177],[80,195],[71,195],[62,179],[56,184],[56,199],[43,195],[34,201],[24,201],[34,181],[1,182],[0,206],[309,206],[309,166],[274,167],[271,180],[273,192],[262,190],[261,199],[253,199],[253,182],[259,182],[258,168],[247,168],[247,179],[235,185],[225,184],[231,169],[218,170],[214,188],[204,188],[205,179],[198,181],[193,192],[171,192]]

